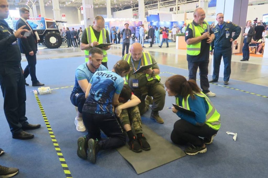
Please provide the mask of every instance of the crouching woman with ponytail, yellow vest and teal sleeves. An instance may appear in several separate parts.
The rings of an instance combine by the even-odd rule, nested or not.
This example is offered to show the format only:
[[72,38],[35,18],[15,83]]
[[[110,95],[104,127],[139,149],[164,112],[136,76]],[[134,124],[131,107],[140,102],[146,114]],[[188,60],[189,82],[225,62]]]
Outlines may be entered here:
[[168,96],[176,96],[176,105],[195,113],[193,116],[172,108],[181,119],[174,123],[171,140],[179,145],[192,144],[185,149],[186,154],[205,153],[205,144],[212,143],[221,127],[220,114],[195,80],[187,81],[184,76],[174,75],[166,80],[165,86]]

